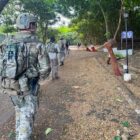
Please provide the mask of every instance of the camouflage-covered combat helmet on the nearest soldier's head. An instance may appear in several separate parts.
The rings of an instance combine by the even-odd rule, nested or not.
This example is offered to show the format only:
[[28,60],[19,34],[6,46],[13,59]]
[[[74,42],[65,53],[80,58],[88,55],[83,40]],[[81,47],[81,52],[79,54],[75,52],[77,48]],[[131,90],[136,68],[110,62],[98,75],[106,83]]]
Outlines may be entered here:
[[22,13],[17,17],[16,25],[18,29],[29,29],[31,23],[36,23],[37,18],[33,14]]

